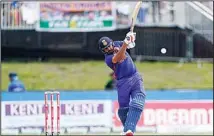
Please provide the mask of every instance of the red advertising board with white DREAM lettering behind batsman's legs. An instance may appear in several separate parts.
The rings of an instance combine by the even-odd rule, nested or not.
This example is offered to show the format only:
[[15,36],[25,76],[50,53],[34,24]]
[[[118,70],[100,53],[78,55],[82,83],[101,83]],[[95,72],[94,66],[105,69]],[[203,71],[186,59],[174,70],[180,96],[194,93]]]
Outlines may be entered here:
[[[114,127],[121,127],[118,102],[113,102]],[[137,127],[213,124],[213,101],[147,101]]]

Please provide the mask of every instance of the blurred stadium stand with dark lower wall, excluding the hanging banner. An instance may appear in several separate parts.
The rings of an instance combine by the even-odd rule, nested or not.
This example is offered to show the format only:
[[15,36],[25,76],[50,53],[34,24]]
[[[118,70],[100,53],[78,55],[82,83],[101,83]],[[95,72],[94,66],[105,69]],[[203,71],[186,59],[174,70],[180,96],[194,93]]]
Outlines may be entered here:
[[[97,40],[103,35],[122,40],[129,31],[128,20],[135,3],[116,3],[115,31],[49,33],[36,30],[38,2],[2,2],[2,58],[102,58]],[[212,58],[212,9],[213,2],[144,2],[135,28],[137,46],[131,54],[148,60]],[[161,48],[167,53],[162,54]]]

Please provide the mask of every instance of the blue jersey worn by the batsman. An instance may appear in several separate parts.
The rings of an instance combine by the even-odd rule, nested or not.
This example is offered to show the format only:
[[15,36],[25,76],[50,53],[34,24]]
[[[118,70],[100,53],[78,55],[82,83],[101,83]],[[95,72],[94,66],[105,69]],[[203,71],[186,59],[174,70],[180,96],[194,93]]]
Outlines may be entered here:
[[[114,47],[121,47],[122,45],[122,41],[113,42]],[[114,54],[105,54],[105,62],[114,71],[117,80],[131,77],[137,72],[136,66],[128,52],[126,52],[124,60],[115,64],[112,62],[113,56]]]

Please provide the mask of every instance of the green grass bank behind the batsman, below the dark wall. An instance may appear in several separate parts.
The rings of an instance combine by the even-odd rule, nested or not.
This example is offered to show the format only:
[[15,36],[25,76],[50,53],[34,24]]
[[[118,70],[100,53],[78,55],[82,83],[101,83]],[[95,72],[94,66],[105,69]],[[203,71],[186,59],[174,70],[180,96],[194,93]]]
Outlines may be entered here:
[[[178,63],[136,63],[144,77],[146,89],[161,88],[213,88],[213,64],[188,63],[182,67]],[[3,62],[2,89],[8,86],[8,73],[17,72],[28,90],[97,90],[103,89],[111,70],[103,61],[78,62]]]

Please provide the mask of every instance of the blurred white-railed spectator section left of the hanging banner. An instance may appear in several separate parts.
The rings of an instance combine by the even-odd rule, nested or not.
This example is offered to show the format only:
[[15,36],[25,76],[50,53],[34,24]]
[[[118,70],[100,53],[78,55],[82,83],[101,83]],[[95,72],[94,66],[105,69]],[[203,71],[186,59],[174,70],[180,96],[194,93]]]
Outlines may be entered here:
[[[30,8],[30,10],[28,10]],[[27,9],[27,10],[26,10]],[[26,16],[34,17],[37,7],[33,2],[2,2],[1,29],[3,30],[34,30],[35,21],[27,22]],[[28,19],[29,20],[29,19]]]

